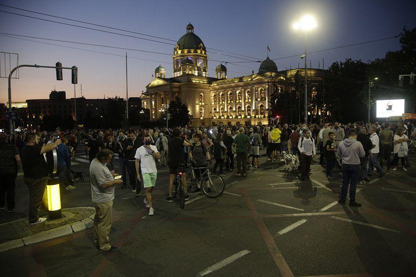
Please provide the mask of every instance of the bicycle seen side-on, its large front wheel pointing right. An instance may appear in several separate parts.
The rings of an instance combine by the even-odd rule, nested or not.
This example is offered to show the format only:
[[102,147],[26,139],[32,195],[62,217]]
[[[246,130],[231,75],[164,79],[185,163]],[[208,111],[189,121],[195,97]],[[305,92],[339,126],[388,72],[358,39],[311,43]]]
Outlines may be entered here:
[[[186,172],[186,184],[188,191],[190,188],[197,188],[197,184],[200,183],[200,187],[203,193],[210,197],[216,198],[223,194],[226,188],[224,179],[215,173],[211,173],[208,165],[203,167],[193,167],[192,163],[189,164],[189,170]],[[200,172],[199,177],[196,178],[195,170],[204,170]]]

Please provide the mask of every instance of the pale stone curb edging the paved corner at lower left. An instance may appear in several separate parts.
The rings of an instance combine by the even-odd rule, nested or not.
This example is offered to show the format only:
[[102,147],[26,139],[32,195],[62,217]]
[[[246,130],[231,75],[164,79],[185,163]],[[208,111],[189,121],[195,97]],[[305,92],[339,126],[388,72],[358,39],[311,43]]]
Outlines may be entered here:
[[[82,208],[92,208],[93,207],[82,207]],[[38,242],[54,239],[57,237],[70,235],[76,232],[84,231],[94,226],[94,214],[84,218],[80,221],[75,221],[73,223],[65,224],[50,230],[42,231],[34,235],[26,236],[23,238],[18,238],[10,241],[0,243],[0,252],[5,252],[15,248],[19,248],[25,245],[31,245]]]

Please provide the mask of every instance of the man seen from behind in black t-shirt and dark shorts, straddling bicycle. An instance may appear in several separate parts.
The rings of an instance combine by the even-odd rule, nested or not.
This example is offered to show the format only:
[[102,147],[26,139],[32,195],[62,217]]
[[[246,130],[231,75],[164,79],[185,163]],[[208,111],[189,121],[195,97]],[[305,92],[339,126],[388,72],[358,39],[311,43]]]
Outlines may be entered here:
[[[167,202],[173,202],[172,200],[173,181],[177,174],[179,164],[183,164],[184,158],[185,158],[185,151],[183,147],[192,146],[189,140],[186,139],[186,135],[184,135],[183,137],[179,137],[179,136],[180,136],[179,129],[175,129],[173,130],[173,138],[169,139],[169,141],[167,142],[167,145],[168,145],[167,148],[169,149],[168,154],[169,154],[169,174],[170,174],[169,175],[169,196],[166,197]],[[185,191],[187,191],[185,172],[183,172],[182,174],[182,182],[183,182],[183,186],[185,187]],[[189,199],[189,196],[187,193],[185,193],[185,200],[188,200],[188,199]]]

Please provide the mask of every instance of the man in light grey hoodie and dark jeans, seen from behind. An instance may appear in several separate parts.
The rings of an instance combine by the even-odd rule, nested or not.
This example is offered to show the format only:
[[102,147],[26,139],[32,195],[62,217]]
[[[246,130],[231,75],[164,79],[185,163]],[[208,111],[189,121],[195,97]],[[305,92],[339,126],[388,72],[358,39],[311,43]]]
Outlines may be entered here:
[[349,132],[348,138],[338,144],[337,153],[342,160],[342,188],[338,203],[345,205],[348,185],[350,185],[349,205],[351,207],[361,207],[361,204],[355,201],[355,191],[361,171],[360,158],[365,156],[365,151],[361,142],[357,141],[355,131]]

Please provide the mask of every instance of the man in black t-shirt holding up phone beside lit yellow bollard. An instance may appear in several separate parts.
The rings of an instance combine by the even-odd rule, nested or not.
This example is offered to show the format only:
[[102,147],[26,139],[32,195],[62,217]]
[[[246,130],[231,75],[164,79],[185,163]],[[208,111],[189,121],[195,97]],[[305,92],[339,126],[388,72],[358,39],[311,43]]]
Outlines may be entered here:
[[29,187],[29,223],[37,224],[46,220],[39,217],[42,199],[46,197],[45,188],[49,180],[49,170],[43,154],[54,150],[61,140],[47,145],[39,144],[35,133],[26,135],[26,144],[21,151],[25,184]]

